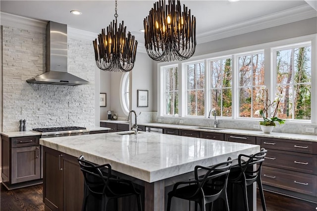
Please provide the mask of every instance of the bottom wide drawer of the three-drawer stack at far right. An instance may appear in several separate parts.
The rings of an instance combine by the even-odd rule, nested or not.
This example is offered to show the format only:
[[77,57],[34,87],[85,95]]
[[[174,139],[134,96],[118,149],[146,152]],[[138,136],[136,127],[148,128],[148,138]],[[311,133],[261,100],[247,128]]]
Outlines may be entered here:
[[265,185],[317,196],[316,175],[263,166],[261,176]]

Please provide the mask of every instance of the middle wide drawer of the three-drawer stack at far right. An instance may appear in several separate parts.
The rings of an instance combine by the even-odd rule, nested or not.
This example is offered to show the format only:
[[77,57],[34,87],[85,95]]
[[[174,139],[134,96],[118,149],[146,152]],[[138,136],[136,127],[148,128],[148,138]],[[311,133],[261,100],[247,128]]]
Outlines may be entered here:
[[264,165],[317,174],[317,156],[310,154],[268,150]]

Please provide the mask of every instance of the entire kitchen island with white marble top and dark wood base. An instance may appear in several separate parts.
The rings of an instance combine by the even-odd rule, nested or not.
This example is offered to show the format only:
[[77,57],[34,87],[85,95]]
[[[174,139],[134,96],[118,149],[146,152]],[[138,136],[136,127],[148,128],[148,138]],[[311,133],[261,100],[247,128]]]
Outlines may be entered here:
[[[47,210],[66,210],[67,206],[71,207],[71,203],[81,205],[81,198],[69,199],[76,197],[77,192],[82,191],[81,188],[79,191],[63,188],[64,194],[65,191],[75,192],[64,196],[64,200],[68,200],[67,206],[49,205],[54,203],[46,198],[48,195],[56,195],[55,190],[50,190],[56,188],[56,184],[52,184],[51,181],[54,178],[52,175],[73,169],[69,172],[72,179],[62,185],[82,182],[82,179],[77,179],[76,176],[81,173],[75,159],[81,155],[97,164],[110,163],[118,176],[143,186],[145,211],[163,211],[166,210],[166,193],[170,190],[168,187],[172,187],[177,181],[193,178],[192,172],[196,165],[211,166],[227,160],[228,157],[235,159],[239,154],[251,155],[260,151],[258,145],[146,132],[137,135],[120,135],[118,132],[44,138],[40,139],[40,144],[44,146],[43,194]],[[56,152],[54,158],[50,153],[52,151]],[[61,161],[64,158],[70,162]],[[55,164],[48,162],[54,159]],[[65,175],[61,178],[65,178]],[[83,184],[77,186],[82,187]]]

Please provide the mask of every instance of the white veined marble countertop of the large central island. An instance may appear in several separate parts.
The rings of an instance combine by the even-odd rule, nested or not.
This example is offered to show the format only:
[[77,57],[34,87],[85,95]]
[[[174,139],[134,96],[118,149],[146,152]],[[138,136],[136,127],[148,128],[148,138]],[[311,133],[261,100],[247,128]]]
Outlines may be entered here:
[[102,133],[40,139],[40,144],[113,170],[155,182],[191,172],[196,165],[210,166],[239,154],[251,155],[260,146],[158,133],[119,135]]

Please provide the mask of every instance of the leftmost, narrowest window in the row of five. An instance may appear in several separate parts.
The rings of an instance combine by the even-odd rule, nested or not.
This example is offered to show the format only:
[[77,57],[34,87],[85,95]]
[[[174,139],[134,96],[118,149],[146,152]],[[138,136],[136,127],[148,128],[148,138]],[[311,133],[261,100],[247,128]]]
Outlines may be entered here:
[[164,68],[165,115],[178,115],[178,68]]

